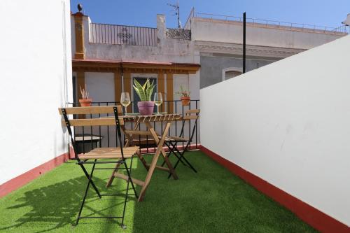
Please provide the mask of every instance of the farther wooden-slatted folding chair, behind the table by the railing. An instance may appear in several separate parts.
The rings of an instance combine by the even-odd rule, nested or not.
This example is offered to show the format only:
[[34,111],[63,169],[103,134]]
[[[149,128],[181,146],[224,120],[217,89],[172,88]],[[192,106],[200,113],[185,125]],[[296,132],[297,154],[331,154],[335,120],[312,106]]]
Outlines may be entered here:
[[[197,120],[200,117],[200,109],[191,109],[185,112],[185,115],[182,118],[182,127],[181,127],[181,133],[179,136],[167,136],[165,138],[165,144],[169,148],[169,153],[167,157],[169,157],[171,154],[174,154],[177,157],[177,162],[174,165],[174,169],[176,169],[179,162],[181,162],[183,165],[188,165],[195,173],[197,173],[197,170],[193,167],[190,162],[184,157],[183,155],[186,153],[187,150],[190,149],[190,144],[193,140],[193,136],[195,135],[195,129],[197,127]],[[186,122],[190,125],[190,120],[195,120],[195,125],[193,125],[192,132],[190,134],[190,138],[186,139],[183,137],[184,135],[184,128]],[[189,126],[190,127],[190,126]],[[178,143],[186,143],[186,146],[183,146],[182,152],[177,148]],[[177,154],[176,154],[177,153]],[[165,162],[163,162],[162,167],[164,166]],[[170,176],[168,176],[170,178]]]

